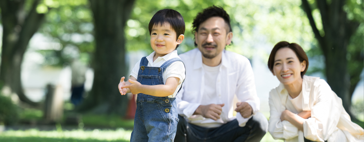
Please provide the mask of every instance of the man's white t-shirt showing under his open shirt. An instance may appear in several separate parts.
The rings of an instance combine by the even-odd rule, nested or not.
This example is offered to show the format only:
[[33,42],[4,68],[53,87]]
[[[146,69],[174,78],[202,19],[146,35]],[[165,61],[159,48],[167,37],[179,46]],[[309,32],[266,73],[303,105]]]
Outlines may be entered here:
[[[219,104],[218,96],[216,93],[216,80],[217,75],[219,73],[219,68],[221,64],[215,67],[207,66],[202,63],[203,70],[205,72],[205,89],[203,91],[203,99],[201,100],[201,105],[209,105],[209,104]],[[216,128],[224,124],[222,119],[218,119],[217,121],[211,118],[205,118],[201,120],[199,123],[193,123],[194,125],[198,125],[205,128]]]

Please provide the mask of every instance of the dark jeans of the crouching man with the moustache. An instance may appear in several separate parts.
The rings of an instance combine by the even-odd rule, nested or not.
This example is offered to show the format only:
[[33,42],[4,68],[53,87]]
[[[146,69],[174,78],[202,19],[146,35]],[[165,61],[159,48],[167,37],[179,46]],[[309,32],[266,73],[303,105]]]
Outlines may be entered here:
[[178,118],[175,142],[259,142],[268,131],[268,120],[259,112],[244,127],[236,119],[218,128],[204,128]]

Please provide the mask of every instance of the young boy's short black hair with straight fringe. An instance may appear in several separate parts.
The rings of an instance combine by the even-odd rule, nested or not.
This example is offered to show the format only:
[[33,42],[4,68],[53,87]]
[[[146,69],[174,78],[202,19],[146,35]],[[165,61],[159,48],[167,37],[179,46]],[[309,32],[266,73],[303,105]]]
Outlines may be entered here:
[[[165,22],[168,22],[171,25],[171,28],[177,33],[176,41],[178,40],[179,35],[185,34],[186,26],[182,15],[173,9],[162,9],[155,13],[150,20],[148,26],[149,35],[151,35],[154,25],[162,26]],[[178,46],[179,45],[176,46],[176,49]]]

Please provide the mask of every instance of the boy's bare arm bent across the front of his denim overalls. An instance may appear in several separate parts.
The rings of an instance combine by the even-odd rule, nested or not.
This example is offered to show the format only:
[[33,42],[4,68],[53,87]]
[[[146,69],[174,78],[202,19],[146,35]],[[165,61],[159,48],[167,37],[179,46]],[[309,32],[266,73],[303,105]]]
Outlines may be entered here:
[[133,94],[143,93],[156,97],[166,97],[173,95],[178,86],[179,78],[169,77],[165,85],[142,85],[131,78],[129,82],[130,84],[124,85],[122,88],[128,88]]

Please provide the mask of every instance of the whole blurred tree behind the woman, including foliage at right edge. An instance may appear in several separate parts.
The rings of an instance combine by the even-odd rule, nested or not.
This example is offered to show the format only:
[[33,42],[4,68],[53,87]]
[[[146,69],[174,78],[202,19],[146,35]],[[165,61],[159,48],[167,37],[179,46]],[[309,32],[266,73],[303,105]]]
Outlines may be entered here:
[[325,57],[327,83],[354,120],[351,98],[364,66],[362,4],[363,0],[302,0]]

